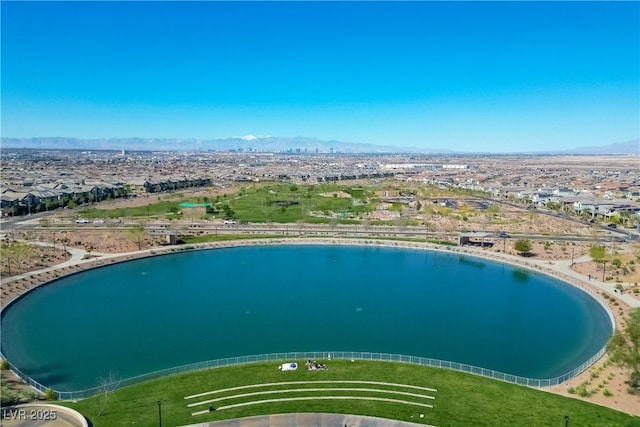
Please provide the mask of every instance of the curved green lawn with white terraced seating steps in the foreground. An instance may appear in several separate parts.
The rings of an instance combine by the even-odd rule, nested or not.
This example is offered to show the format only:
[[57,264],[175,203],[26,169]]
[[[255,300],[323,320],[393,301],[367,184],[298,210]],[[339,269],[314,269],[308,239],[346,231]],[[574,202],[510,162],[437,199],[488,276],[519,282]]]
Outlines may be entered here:
[[[290,361],[290,360],[287,360]],[[102,416],[97,416],[100,397],[76,403],[63,402],[87,416],[95,427],[153,426],[158,423],[158,400],[162,401],[163,425],[179,426],[253,415],[289,412],[330,412],[377,416],[403,421],[422,422],[443,426],[564,426],[564,417],[570,417],[570,426],[640,426],[640,418],[600,407],[576,399],[545,391],[490,380],[475,375],[446,369],[429,368],[395,362],[369,362],[347,360],[324,361],[326,371],[307,371],[304,361],[297,371],[281,372],[278,362],[261,362],[225,368],[209,369],[173,375],[136,384],[109,395]],[[363,380],[410,384],[437,389],[433,408],[359,400],[305,400],[278,402],[207,412],[192,416],[192,412],[207,409],[207,405],[189,408],[187,404],[206,398],[185,400],[185,396],[224,388],[284,381],[338,381]],[[321,387],[308,385],[307,387]],[[336,387],[335,384],[322,385]],[[287,386],[285,388],[304,386]],[[354,387],[349,385],[349,387]],[[369,386],[371,387],[371,386]],[[282,389],[270,386],[260,390]],[[383,387],[379,387],[383,388]],[[388,387],[384,387],[388,388]],[[252,390],[255,391],[255,390]],[[226,395],[246,391],[226,392]],[[263,395],[244,398],[246,401],[274,397],[296,397],[327,394],[298,392],[284,395]],[[354,395],[354,392],[328,394]],[[224,395],[224,394],[223,394]],[[413,400],[384,393],[358,393],[363,396],[390,397]],[[218,396],[215,396],[218,397]],[[242,399],[233,403],[242,401]],[[424,418],[419,414],[423,413]]]

